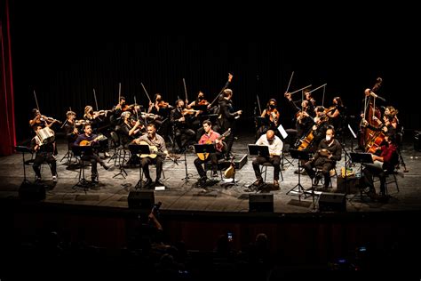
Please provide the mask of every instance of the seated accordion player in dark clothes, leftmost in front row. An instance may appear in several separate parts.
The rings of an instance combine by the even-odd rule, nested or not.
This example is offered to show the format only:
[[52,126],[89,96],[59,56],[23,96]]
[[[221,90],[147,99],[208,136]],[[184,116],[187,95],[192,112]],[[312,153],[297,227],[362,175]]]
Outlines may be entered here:
[[[36,132],[39,132],[43,129],[43,126],[37,125]],[[36,135],[31,140],[31,149],[36,152],[36,158],[34,160],[34,165],[32,168],[36,173],[36,181],[41,181],[41,165],[44,162],[47,162],[50,165],[50,169],[52,170],[52,181],[57,182],[57,167],[56,167],[56,158],[55,158],[55,145],[54,142],[48,142],[42,144],[39,137]]]

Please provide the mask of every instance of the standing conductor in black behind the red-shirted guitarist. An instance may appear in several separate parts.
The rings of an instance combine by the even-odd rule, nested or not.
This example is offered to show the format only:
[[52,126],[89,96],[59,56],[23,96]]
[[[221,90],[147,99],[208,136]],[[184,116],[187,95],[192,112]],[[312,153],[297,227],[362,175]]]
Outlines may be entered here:
[[234,111],[233,90],[225,89],[222,92],[222,99],[219,101],[219,114],[221,131],[226,132],[231,128],[230,135],[226,138],[226,158],[229,159],[234,143],[235,119],[242,115],[242,110]]

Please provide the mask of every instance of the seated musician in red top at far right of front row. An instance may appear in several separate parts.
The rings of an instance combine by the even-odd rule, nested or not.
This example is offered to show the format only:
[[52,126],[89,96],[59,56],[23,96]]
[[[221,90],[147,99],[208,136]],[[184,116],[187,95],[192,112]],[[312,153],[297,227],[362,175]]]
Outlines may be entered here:
[[394,166],[399,162],[394,136],[385,135],[385,141],[386,144],[378,148],[380,155],[371,155],[374,163],[365,165],[364,170],[362,170],[362,173],[364,174],[363,184],[365,187],[369,188],[370,195],[376,194],[373,176],[377,176],[380,179],[380,195],[385,196],[386,173],[393,172]]

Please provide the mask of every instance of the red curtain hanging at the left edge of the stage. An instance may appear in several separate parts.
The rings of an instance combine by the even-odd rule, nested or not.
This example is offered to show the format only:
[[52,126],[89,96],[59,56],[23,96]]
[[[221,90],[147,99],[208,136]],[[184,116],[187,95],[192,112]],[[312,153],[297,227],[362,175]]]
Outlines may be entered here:
[[0,1],[0,156],[16,146],[9,0]]

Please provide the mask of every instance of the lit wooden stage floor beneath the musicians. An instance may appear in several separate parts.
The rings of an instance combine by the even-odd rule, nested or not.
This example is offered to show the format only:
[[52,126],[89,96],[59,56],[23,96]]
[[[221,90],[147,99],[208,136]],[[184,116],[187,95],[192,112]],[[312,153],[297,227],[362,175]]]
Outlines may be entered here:
[[[248,154],[247,144],[254,143],[254,136],[240,136],[234,142],[233,152],[237,158]],[[351,152],[350,143],[346,143],[346,151]],[[98,166],[99,184],[96,189],[84,189],[75,187],[78,182],[79,168],[76,165],[69,165],[67,159],[62,159],[67,152],[65,141],[58,140],[59,155],[57,156],[57,170],[59,180],[57,184],[52,182],[52,174],[48,165],[44,165],[42,170],[43,181],[47,189],[44,202],[63,204],[63,205],[93,205],[128,208],[127,197],[130,191],[135,190],[139,181],[139,165],[124,167],[127,176],[115,174],[119,173],[119,167],[115,166],[110,170],[105,170]],[[113,151],[109,152],[111,155]],[[25,159],[30,159],[31,155],[26,154]],[[280,189],[273,190],[273,168],[267,168],[266,182],[268,185],[261,190],[250,190],[248,186],[256,180],[251,161],[248,156],[248,162],[242,166],[242,169],[235,173],[236,185],[226,186],[225,181],[212,181],[205,189],[198,188],[198,173],[195,170],[194,160],[196,155],[193,152],[186,154],[187,174],[184,155],[181,155],[177,163],[171,160],[165,160],[163,172],[165,178],[164,190],[155,190],[155,203],[162,202],[164,210],[182,210],[182,211],[205,211],[205,212],[249,212],[249,195],[257,193],[270,193],[274,195],[274,213],[308,213],[319,212],[319,202],[321,192],[315,192],[312,197],[298,196],[297,189],[294,189],[288,195],[288,191],[298,184],[298,174],[294,173],[298,169],[298,161],[291,159],[289,154],[285,155],[284,170],[282,171],[283,181],[280,181]],[[372,200],[369,197],[354,197],[355,194],[346,195],[347,212],[381,212],[381,211],[400,211],[400,210],[419,210],[421,207],[421,152],[413,149],[411,143],[403,146],[402,157],[406,164],[407,173],[404,173],[401,167],[397,175],[399,189],[398,192],[394,184],[389,185],[390,198],[387,202]],[[287,161],[292,162],[292,165]],[[106,162],[108,159],[104,159]],[[22,155],[20,153],[9,157],[0,157],[0,197],[17,198],[20,184],[24,180],[24,168],[22,165]],[[344,166],[345,157],[337,165],[337,172],[340,173]],[[114,166],[114,160],[107,165]],[[359,165],[352,167],[354,171],[359,172]],[[85,168],[86,179],[90,180],[91,168]],[[150,167],[152,179],[155,180],[155,167]],[[26,174],[28,181],[34,181],[35,173],[31,165],[26,165]],[[210,176],[210,173],[208,173]],[[310,178],[301,175],[301,184],[304,189],[311,187]],[[337,178],[332,178],[333,189],[337,189]],[[378,182],[376,186],[378,192]],[[354,197],[354,198],[353,198]]]

